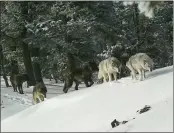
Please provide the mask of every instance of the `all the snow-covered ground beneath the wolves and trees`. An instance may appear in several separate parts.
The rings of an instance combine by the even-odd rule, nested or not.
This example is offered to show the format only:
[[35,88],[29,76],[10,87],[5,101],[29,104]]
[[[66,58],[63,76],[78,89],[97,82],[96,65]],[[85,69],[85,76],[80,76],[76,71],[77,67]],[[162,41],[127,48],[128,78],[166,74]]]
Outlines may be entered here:
[[[173,66],[154,70],[144,81],[130,77],[63,94],[63,84],[48,87],[48,100],[32,105],[32,88],[25,95],[1,88],[2,132],[161,132],[173,131]],[[1,79],[2,80],[2,79]],[[151,107],[139,114],[145,105]],[[19,113],[18,113],[19,112]],[[134,119],[133,119],[134,118]],[[128,121],[112,128],[111,122]]]

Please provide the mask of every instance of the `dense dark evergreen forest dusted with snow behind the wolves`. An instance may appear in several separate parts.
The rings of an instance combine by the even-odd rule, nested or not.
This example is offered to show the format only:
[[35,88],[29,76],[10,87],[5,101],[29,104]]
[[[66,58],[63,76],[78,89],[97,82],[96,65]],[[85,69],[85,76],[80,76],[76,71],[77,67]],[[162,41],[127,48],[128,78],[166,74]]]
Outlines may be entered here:
[[[1,1],[1,76],[27,73],[29,85],[43,78],[64,81],[72,64],[82,67],[114,56],[128,76],[129,57],[147,53],[155,69],[173,65],[173,1],[140,13],[122,1]],[[74,60],[69,60],[73,56]]]

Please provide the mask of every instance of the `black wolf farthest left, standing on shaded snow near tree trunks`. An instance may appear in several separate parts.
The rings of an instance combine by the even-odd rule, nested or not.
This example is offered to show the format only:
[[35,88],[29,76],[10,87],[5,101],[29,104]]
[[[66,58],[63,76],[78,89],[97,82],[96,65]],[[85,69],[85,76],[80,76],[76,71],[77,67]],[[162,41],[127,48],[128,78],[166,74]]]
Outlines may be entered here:
[[[10,76],[10,82],[11,85],[13,86],[13,89],[15,92],[17,92],[17,89],[20,94],[24,94],[23,89],[22,89],[22,84],[25,81],[29,81],[28,75],[27,74],[11,74]],[[28,83],[27,83],[28,86]]]

